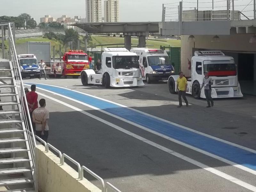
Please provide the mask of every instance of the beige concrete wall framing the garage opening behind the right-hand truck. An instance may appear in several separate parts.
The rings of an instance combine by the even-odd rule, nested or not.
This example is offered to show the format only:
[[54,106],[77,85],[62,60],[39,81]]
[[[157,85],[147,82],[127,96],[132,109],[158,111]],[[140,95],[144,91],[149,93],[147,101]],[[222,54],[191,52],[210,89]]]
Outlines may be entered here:
[[[195,44],[188,42],[188,36],[181,36],[181,70],[185,73],[186,76],[189,76],[190,71],[188,70],[187,59],[191,60],[191,57],[193,56],[193,48],[206,50],[221,50],[225,53],[229,52],[229,54],[226,54],[228,54],[229,56],[234,56],[235,60],[238,59],[236,59],[236,55],[232,54],[231,52],[256,53],[256,44],[249,43],[251,36],[252,34],[219,36],[220,43],[212,43],[211,40],[213,36],[200,35],[195,36]],[[255,68],[256,62],[254,67],[256,75]]]

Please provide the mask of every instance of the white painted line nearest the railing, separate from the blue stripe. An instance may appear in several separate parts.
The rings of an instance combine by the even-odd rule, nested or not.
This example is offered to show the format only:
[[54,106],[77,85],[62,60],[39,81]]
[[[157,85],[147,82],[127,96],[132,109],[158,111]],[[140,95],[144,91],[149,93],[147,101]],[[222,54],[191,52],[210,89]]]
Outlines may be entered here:
[[50,97],[50,96],[48,96],[48,95],[45,95],[45,94],[43,94],[43,93],[39,93],[39,92],[37,92],[37,93],[38,93],[39,95],[42,95],[42,96],[45,97],[45,98],[51,99],[51,100],[53,100],[53,101],[55,101],[55,102],[57,102],[57,103],[60,103],[60,104],[62,104],[62,105],[64,105],[64,106],[67,106],[67,107],[72,108],[72,109],[74,109],[74,110],[76,110],[76,111],[79,111],[80,113],[83,113],[83,114],[86,115],[86,116],[89,116],[89,117],[91,117],[91,118],[93,118],[93,119],[96,119],[96,120],[98,120],[98,121],[100,121],[100,122],[102,122],[102,123],[104,123],[104,124],[106,124],[106,125],[108,125],[108,126],[110,126],[110,127],[115,128],[115,129],[118,130],[118,131],[121,131],[121,132],[123,132],[123,133],[125,133],[125,134],[127,134],[127,135],[130,135],[130,136],[132,136],[132,137],[134,137],[134,138],[136,138],[136,139],[138,139],[138,140],[140,140],[140,141],[142,141],[142,142],[145,142],[145,143],[147,143],[147,144],[149,144],[149,145],[151,145],[151,146],[153,146],[153,147],[155,147],[155,148],[158,148],[158,149],[160,149],[160,150],[162,150],[162,151],[165,151],[165,152],[167,152],[167,153],[169,153],[169,154],[171,154],[171,155],[173,155],[173,156],[176,156],[176,157],[178,157],[178,158],[180,158],[180,159],[183,159],[184,161],[187,161],[187,162],[189,162],[189,163],[191,163],[191,164],[194,164],[194,165],[196,165],[196,166],[198,166],[198,167],[201,167],[201,168],[203,168],[204,170],[206,170],[206,171],[208,171],[208,172],[211,172],[211,173],[213,173],[213,174],[215,174],[215,175],[218,175],[218,176],[220,176],[220,177],[222,177],[222,178],[224,178],[224,179],[226,179],[226,180],[229,180],[229,181],[231,181],[231,182],[233,182],[233,183],[236,183],[237,185],[240,185],[240,186],[242,186],[242,187],[244,187],[244,188],[247,188],[247,189],[249,189],[249,190],[251,190],[251,191],[253,191],[253,192],[256,192],[256,187],[253,186],[253,185],[251,185],[251,184],[249,184],[249,183],[246,183],[246,182],[244,182],[244,181],[242,181],[242,180],[239,180],[239,179],[237,179],[237,178],[235,178],[235,177],[232,177],[231,175],[228,175],[228,174],[226,174],[226,173],[224,173],[224,172],[221,172],[221,171],[219,171],[219,170],[217,170],[217,169],[214,169],[214,168],[212,168],[212,167],[209,167],[209,166],[207,166],[207,165],[205,165],[205,164],[202,164],[202,163],[200,163],[200,162],[198,162],[198,161],[196,161],[196,160],[194,160],[194,159],[191,159],[191,158],[189,158],[189,157],[187,157],[187,156],[184,156],[184,155],[182,155],[182,154],[180,154],[180,153],[177,153],[177,152],[175,152],[175,151],[173,151],[173,150],[171,150],[171,149],[169,149],[169,148],[165,148],[164,146],[161,146],[161,145],[159,145],[159,144],[157,144],[157,143],[155,143],[155,142],[153,142],[153,141],[147,140],[147,139],[145,139],[145,138],[143,138],[143,137],[141,137],[141,136],[139,136],[139,135],[136,135],[136,134],[134,134],[134,133],[132,133],[132,132],[130,132],[130,131],[127,131],[127,130],[125,130],[125,129],[123,129],[123,128],[121,128],[121,127],[115,125],[115,124],[112,124],[112,123],[110,123],[110,122],[108,122],[108,121],[106,121],[106,120],[104,120],[104,119],[101,119],[100,117],[97,117],[97,116],[94,116],[94,115],[92,115],[92,114],[90,114],[90,113],[87,113],[87,112],[83,111],[83,110],[80,109],[80,108],[76,108],[76,107],[74,107],[74,106],[72,106],[72,105],[69,105],[68,103],[65,103],[65,102],[63,102],[63,101],[57,100],[57,99],[52,98],[52,97]]

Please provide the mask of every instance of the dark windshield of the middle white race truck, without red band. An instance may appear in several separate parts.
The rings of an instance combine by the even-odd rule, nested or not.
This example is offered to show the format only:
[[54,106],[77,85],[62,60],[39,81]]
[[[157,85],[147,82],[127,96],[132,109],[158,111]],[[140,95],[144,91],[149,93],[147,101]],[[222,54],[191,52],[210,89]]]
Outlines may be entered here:
[[137,56],[113,56],[114,69],[132,69],[139,68]]

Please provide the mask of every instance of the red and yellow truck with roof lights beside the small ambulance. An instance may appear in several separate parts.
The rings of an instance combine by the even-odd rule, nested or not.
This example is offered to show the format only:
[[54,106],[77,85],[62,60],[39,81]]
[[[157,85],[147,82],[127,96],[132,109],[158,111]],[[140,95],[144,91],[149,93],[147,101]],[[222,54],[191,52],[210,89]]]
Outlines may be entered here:
[[62,60],[51,62],[51,72],[49,75],[78,78],[82,70],[89,68],[88,56],[82,50],[65,52]]

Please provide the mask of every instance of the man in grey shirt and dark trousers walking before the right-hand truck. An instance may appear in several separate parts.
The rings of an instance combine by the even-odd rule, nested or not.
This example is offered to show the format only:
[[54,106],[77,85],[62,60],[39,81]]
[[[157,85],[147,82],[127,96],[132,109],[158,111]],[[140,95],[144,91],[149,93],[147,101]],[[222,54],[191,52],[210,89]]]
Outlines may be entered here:
[[[212,84],[213,84],[212,77],[209,77],[208,71],[204,71],[203,84],[202,84],[200,92],[202,91],[202,89],[204,87],[204,95],[205,95],[206,101],[208,103],[207,108],[211,107],[211,105],[213,107],[212,86],[211,86]],[[211,101],[211,103],[210,103],[210,101]]]

